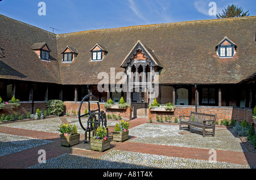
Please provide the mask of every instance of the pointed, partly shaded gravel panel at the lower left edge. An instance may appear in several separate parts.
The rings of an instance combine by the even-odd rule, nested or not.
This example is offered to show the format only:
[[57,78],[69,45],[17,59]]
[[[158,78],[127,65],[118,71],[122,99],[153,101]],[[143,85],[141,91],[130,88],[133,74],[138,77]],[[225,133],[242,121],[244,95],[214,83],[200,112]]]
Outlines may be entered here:
[[0,157],[49,143],[52,141],[0,133]]

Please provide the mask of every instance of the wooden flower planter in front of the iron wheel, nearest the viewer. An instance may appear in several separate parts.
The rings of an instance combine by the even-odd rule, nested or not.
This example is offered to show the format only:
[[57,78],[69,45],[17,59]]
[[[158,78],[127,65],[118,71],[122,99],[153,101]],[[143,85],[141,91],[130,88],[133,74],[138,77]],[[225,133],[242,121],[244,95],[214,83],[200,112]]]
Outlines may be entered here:
[[100,126],[94,131],[94,136],[90,139],[90,149],[102,152],[109,148],[108,128]]

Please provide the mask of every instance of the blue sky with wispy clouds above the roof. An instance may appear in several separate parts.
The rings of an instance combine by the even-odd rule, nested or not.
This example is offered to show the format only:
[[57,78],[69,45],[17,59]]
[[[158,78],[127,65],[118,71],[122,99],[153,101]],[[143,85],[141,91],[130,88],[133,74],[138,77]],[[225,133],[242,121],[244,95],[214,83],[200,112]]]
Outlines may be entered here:
[[[39,15],[39,2],[46,15]],[[210,2],[217,13],[228,5],[242,6],[256,15],[255,0],[2,0],[0,14],[51,31],[68,32],[117,28],[144,24],[216,19],[209,15]],[[1,29],[1,27],[0,27]]]

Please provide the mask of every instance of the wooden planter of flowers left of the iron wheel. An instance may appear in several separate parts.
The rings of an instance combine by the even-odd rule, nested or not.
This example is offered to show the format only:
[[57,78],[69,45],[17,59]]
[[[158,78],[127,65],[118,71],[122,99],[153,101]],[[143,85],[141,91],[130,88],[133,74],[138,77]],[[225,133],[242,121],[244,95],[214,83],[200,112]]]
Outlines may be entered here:
[[79,144],[80,133],[77,133],[75,124],[60,124],[57,131],[60,132],[60,143],[63,146]]

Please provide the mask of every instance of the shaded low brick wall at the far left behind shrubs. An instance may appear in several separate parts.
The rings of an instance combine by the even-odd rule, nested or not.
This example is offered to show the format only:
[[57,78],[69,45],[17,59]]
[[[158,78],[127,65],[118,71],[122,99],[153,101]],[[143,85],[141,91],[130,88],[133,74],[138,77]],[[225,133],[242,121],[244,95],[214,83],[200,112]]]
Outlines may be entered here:
[[[0,110],[0,115],[5,114],[5,115],[11,115],[14,114],[15,112],[18,112],[18,115],[26,115],[28,112],[32,112],[32,102],[19,102],[20,106],[16,108],[10,108],[10,109],[3,109]],[[34,102],[34,113],[36,110],[39,108],[41,111],[46,110],[46,102],[41,102],[41,101],[36,101]]]

